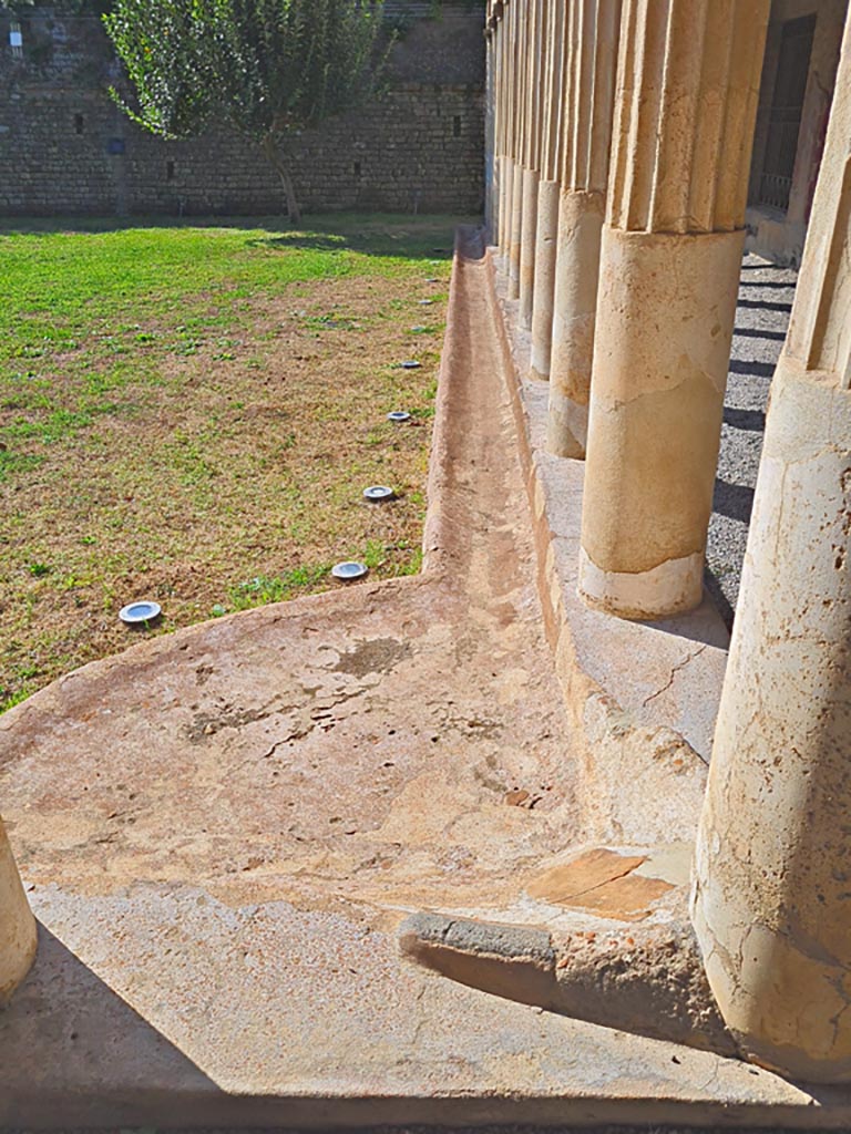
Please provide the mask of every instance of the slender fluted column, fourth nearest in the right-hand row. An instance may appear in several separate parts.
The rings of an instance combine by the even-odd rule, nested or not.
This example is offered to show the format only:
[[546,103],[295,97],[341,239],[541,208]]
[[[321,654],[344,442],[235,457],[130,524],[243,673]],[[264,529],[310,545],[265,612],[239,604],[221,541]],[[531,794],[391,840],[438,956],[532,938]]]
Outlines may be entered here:
[[538,220],[532,295],[532,378],[549,378],[553,341],[553,298],[558,238],[558,197],[562,117],[565,86],[565,18],[571,0],[551,0],[545,27],[546,86],[542,115],[541,170],[538,183]]

